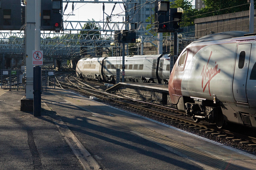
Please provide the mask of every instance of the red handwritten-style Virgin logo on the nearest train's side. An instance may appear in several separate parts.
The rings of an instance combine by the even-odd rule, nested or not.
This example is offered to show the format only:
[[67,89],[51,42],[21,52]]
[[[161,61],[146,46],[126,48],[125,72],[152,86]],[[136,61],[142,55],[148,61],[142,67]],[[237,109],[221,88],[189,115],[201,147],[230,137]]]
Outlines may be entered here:
[[210,61],[211,56],[212,56],[212,51],[210,53],[207,65],[206,65],[206,67],[204,65],[202,73],[201,73],[203,92],[204,92],[205,88],[208,86],[210,96],[212,96],[211,92],[210,92],[210,81],[212,80],[212,78],[214,76],[216,76],[218,73],[220,73],[220,69],[218,70],[218,64],[216,64],[216,61],[215,61],[216,65],[214,67],[212,67],[212,68],[208,67],[208,63]]

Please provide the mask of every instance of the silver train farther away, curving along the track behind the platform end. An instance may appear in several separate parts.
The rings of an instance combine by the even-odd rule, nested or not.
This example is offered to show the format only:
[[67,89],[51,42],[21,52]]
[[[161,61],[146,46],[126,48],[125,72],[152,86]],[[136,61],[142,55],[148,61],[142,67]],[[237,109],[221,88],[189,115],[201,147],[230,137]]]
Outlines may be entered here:
[[[124,60],[125,82],[168,84],[173,67],[173,56],[170,54],[130,55],[125,56]],[[76,64],[76,76],[114,84],[116,72],[122,82],[122,68],[120,56],[84,58]]]

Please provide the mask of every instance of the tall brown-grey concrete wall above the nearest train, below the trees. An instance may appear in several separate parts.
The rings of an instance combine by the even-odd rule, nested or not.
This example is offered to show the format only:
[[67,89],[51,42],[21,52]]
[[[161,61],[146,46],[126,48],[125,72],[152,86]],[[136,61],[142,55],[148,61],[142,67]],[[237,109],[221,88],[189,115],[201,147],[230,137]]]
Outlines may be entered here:
[[[256,9],[254,10],[254,32],[256,29]],[[211,33],[225,31],[247,31],[249,32],[249,10],[242,12],[234,12],[223,15],[215,15],[210,17],[198,18],[195,23],[195,38]]]

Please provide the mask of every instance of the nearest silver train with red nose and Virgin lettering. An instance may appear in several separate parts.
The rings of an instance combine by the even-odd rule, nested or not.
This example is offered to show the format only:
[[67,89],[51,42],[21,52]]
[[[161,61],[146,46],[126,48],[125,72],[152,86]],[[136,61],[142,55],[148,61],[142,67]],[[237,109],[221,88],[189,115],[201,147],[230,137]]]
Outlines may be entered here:
[[207,35],[180,53],[169,96],[193,120],[256,127],[256,36],[244,31]]

